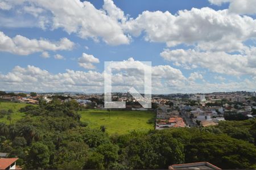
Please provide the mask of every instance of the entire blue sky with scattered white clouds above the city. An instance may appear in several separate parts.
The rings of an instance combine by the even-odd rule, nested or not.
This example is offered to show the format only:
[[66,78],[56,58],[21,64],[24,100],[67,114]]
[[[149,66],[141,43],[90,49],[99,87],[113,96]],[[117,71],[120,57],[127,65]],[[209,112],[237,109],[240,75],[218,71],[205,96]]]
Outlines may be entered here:
[[0,90],[102,92],[104,61],[133,58],[155,93],[255,91],[256,11],[238,1],[1,0]]

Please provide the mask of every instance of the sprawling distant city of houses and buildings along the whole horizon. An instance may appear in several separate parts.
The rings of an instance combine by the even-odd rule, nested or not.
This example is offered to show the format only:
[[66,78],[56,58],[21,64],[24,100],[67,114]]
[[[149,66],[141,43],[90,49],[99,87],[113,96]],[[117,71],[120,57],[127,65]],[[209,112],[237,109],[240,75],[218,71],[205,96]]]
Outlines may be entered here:
[[[0,99],[19,103],[48,103],[76,100],[85,108],[104,110],[104,94],[1,92]],[[256,92],[213,92],[208,94],[152,95],[152,108],[143,108],[129,93],[113,93],[113,101],[125,101],[127,111],[155,111],[155,129],[210,126],[225,120],[256,117]]]

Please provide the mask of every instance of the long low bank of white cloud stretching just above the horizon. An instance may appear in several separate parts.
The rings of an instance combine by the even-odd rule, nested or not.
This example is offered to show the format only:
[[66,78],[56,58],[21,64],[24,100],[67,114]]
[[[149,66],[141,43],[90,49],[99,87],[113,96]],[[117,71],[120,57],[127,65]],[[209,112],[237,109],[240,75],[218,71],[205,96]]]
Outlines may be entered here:
[[[123,61],[127,64],[127,61]],[[121,63],[121,65],[123,65]],[[141,63],[137,63],[138,65]],[[120,67],[121,68],[121,67]],[[39,67],[16,66],[7,74],[0,73],[0,90],[22,90],[37,92],[104,92],[104,72],[96,71],[73,71],[66,70],[64,73],[49,73]],[[164,76],[164,77],[163,77]],[[196,93],[214,91],[255,91],[256,76],[249,79],[241,79],[239,82],[229,83],[196,83],[191,78],[202,78],[200,73],[192,73],[188,78],[180,70],[171,66],[152,67],[152,93]],[[131,86],[135,86],[138,91],[143,92],[143,73],[140,70],[130,70],[125,74],[113,73],[113,90],[125,92]]]

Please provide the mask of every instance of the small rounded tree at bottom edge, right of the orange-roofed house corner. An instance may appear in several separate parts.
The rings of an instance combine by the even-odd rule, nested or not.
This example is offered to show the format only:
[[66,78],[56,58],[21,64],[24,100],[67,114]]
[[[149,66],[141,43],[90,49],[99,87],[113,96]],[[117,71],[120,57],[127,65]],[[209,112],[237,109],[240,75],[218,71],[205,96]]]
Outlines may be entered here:
[[49,149],[41,142],[33,143],[27,156],[28,169],[46,169],[49,163]]

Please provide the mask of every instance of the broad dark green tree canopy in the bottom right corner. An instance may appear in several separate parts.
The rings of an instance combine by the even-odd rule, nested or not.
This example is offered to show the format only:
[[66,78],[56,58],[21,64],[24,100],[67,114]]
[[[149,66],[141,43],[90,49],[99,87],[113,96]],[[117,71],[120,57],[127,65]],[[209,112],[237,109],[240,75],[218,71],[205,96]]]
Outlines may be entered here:
[[250,169],[255,166],[256,147],[225,134],[194,133],[185,147],[185,161],[201,160],[222,169]]

